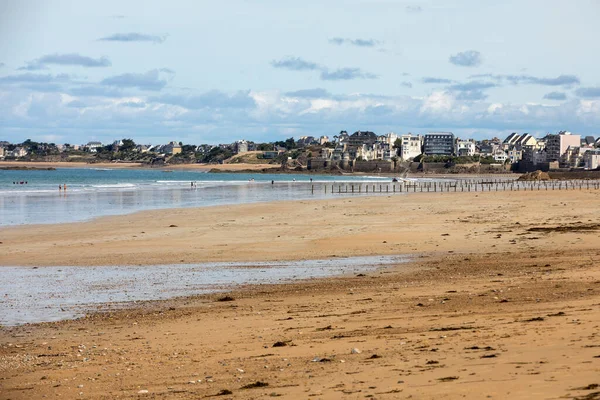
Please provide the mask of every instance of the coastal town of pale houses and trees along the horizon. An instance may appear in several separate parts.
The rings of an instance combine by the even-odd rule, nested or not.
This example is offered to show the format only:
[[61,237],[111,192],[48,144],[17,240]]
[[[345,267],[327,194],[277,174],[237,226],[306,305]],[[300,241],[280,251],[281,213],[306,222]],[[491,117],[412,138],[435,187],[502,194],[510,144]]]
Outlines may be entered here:
[[[534,137],[513,132],[504,140],[462,139],[451,132],[378,135],[356,131],[329,136],[300,136],[283,141],[256,143],[238,140],[218,145],[193,145],[181,141],[137,144],[132,139],[86,144],[22,143],[0,141],[4,161],[141,162],[152,166],[169,164],[275,164],[299,171],[340,170],[393,172],[407,163],[424,170],[441,164],[487,166],[497,171],[595,170],[600,167],[600,137],[568,131]],[[478,169],[480,171],[480,169]]]

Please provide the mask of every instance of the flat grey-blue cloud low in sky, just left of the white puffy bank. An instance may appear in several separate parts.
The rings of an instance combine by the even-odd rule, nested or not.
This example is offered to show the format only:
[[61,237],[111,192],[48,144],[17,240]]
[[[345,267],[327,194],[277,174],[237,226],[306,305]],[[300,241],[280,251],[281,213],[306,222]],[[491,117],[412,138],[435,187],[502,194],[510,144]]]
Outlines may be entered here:
[[149,100],[155,103],[173,104],[192,110],[202,108],[243,109],[254,108],[256,106],[256,102],[250,96],[250,91],[238,91],[232,95],[219,90],[211,90],[195,96],[166,94],[159,97],[151,97]]

